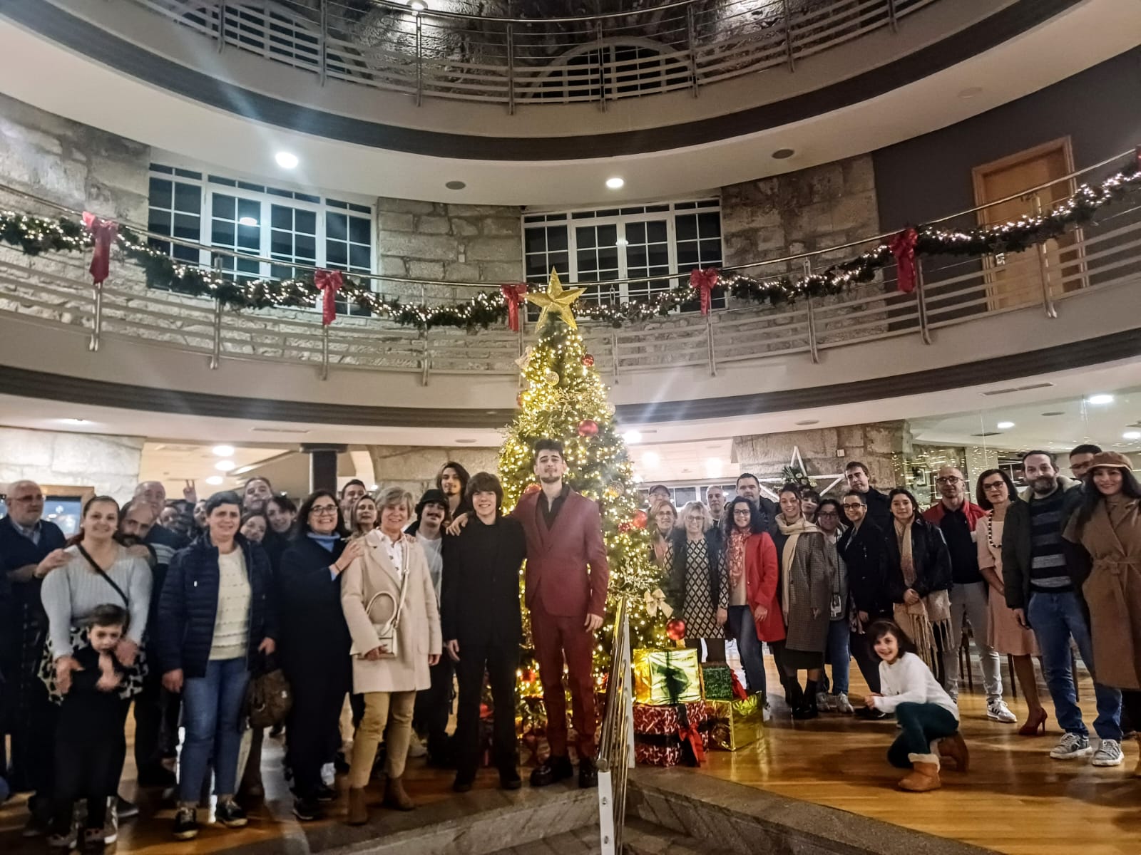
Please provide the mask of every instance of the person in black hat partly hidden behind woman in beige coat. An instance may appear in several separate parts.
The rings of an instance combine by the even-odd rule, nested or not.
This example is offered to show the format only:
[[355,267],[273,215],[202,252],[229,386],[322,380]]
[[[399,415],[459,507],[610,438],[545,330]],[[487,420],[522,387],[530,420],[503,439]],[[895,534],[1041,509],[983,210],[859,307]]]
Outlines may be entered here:
[[[416,520],[407,528],[407,532],[416,538],[428,559],[428,573],[436,589],[436,604],[439,605],[440,583],[444,573],[444,522],[447,519],[447,497],[442,490],[427,490],[416,505]],[[416,706],[412,716],[414,735],[428,741],[428,764],[446,767],[450,763],[447,750],[447,719],[452,715],[452,659],[443,656],[439,661],[429,667],[431,686],[416,694]],[[424,747],[413,740],[408,747],[408,756],[423,755]]]

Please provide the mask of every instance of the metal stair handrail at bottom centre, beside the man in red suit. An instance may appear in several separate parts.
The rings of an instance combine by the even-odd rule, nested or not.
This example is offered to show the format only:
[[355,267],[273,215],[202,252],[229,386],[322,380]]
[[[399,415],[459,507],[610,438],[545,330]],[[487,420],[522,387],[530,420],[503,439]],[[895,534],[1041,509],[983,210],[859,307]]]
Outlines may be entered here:
[[634,765],[634,712],[629,602],[618,598],[606,681],[606,711],[599,730],[598,830],[602,855],[621,855],[626,816],[626,784]]

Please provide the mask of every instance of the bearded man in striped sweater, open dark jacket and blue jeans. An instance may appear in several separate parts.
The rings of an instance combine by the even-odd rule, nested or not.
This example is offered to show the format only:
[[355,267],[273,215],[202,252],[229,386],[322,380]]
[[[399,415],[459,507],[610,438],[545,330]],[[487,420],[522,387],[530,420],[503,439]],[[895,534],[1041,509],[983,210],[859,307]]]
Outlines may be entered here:
[[1050,752],[1055,760],[1093,754],[1082,720],[1070,668],[1070,638],[1094,677],[1098,718],[1093,728],[1101,746],[1094,766],[1122,763],[1122,693],[1097,682],[1090,624],[1081,597],[1084,581],[1078,561],[1067,554],[1062,530],[1082,503],[1082,486],[1058,474],[1049,451],[1028,451],[1022,470],[1029,489],[1006,511],[1002,538],[1002,572],[1006,605],[1018,622],[1034,629],[1042,650],[1042,670],[1054,702],[1054,717],[1065,733]]

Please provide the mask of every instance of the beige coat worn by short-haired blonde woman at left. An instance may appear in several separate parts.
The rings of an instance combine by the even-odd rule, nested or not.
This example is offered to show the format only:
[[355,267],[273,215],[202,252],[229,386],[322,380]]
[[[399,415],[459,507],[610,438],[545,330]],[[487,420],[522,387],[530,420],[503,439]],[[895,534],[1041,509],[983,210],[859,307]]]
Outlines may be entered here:
[[397,602],[400,598],[400,577],[381,543],[380,529],[365,536],[364,554],[349,564],[341,579],[341,608],[353,635],[354,692],[412,692],[431,686],[428,657],[438,656],[443,646],[436,589],[423,547],[408,535],[400,538],[399,545],[408,578],[396,633],[398,658],[374,661],[364,658],[364,653],[380,644],[373,621],[383,622],[393,614],[391,601],[380,597],[370,617],[365,612],[369,602],[380,592],[388,592]]

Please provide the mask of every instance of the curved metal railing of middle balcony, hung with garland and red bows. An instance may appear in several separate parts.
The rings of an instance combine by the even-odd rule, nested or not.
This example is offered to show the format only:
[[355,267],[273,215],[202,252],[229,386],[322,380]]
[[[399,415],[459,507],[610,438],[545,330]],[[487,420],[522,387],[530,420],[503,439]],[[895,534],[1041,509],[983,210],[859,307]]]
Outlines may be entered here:
[[[1103,177],[1108,163],[1086,171],[1100,170],[1098,177]],[[1071,186],[1074,178],[1059,180]],[[1026,195],[1027,210],[1034,209],[1039,189]],[[16,193],[0,187],[0,193],[5,190]],[[946,221],[948,227],[973,226],[985,210],[962,212]],[[744,269],[758,277],[819,270],[837,252],[855,254],[882,237]],[[218,252],[217,247],[202,249]],[[88,262],[80,254],[32,258],[0,246],[0,318],[81,332],[92,351],[104,340],[120,340],[201,355],[212,368],[230,359],[267,360],[316,366],[322,376],[330,368],[412,372],[423,383],[438,374],[515,377],[515,360],[534,334],[526,318],[518,333],[505,325],[477,333],[418,331],[345,316],[323,327],[317,311],[237,312],[202,298],[148,288],[139,268],[118,260],[113,260],[112,277],[92,288]],[[423,295],[429,303],[468,299],[475,288],[497,291],[494,285],[373,279],[381,293],[404,300]],[[699,368],[717,374],[728,365],[796,353],[822,361],[834,348],[890,337],[914,336],[931,343],[940,328],[1033,306],[1054,318],[1068,300],[1139,282],[1141,207],[1117,206],[1107,207],[1095,222],[1021,253],[924,259],[917,287],[909,294],[897,290],[896,270],[889,267],[874,282],[843,294],[779,309],[734,304],[709,316],[673,314],[618,329],[589,321],[580,327],[602,375],[622,383],[639,372]]]

